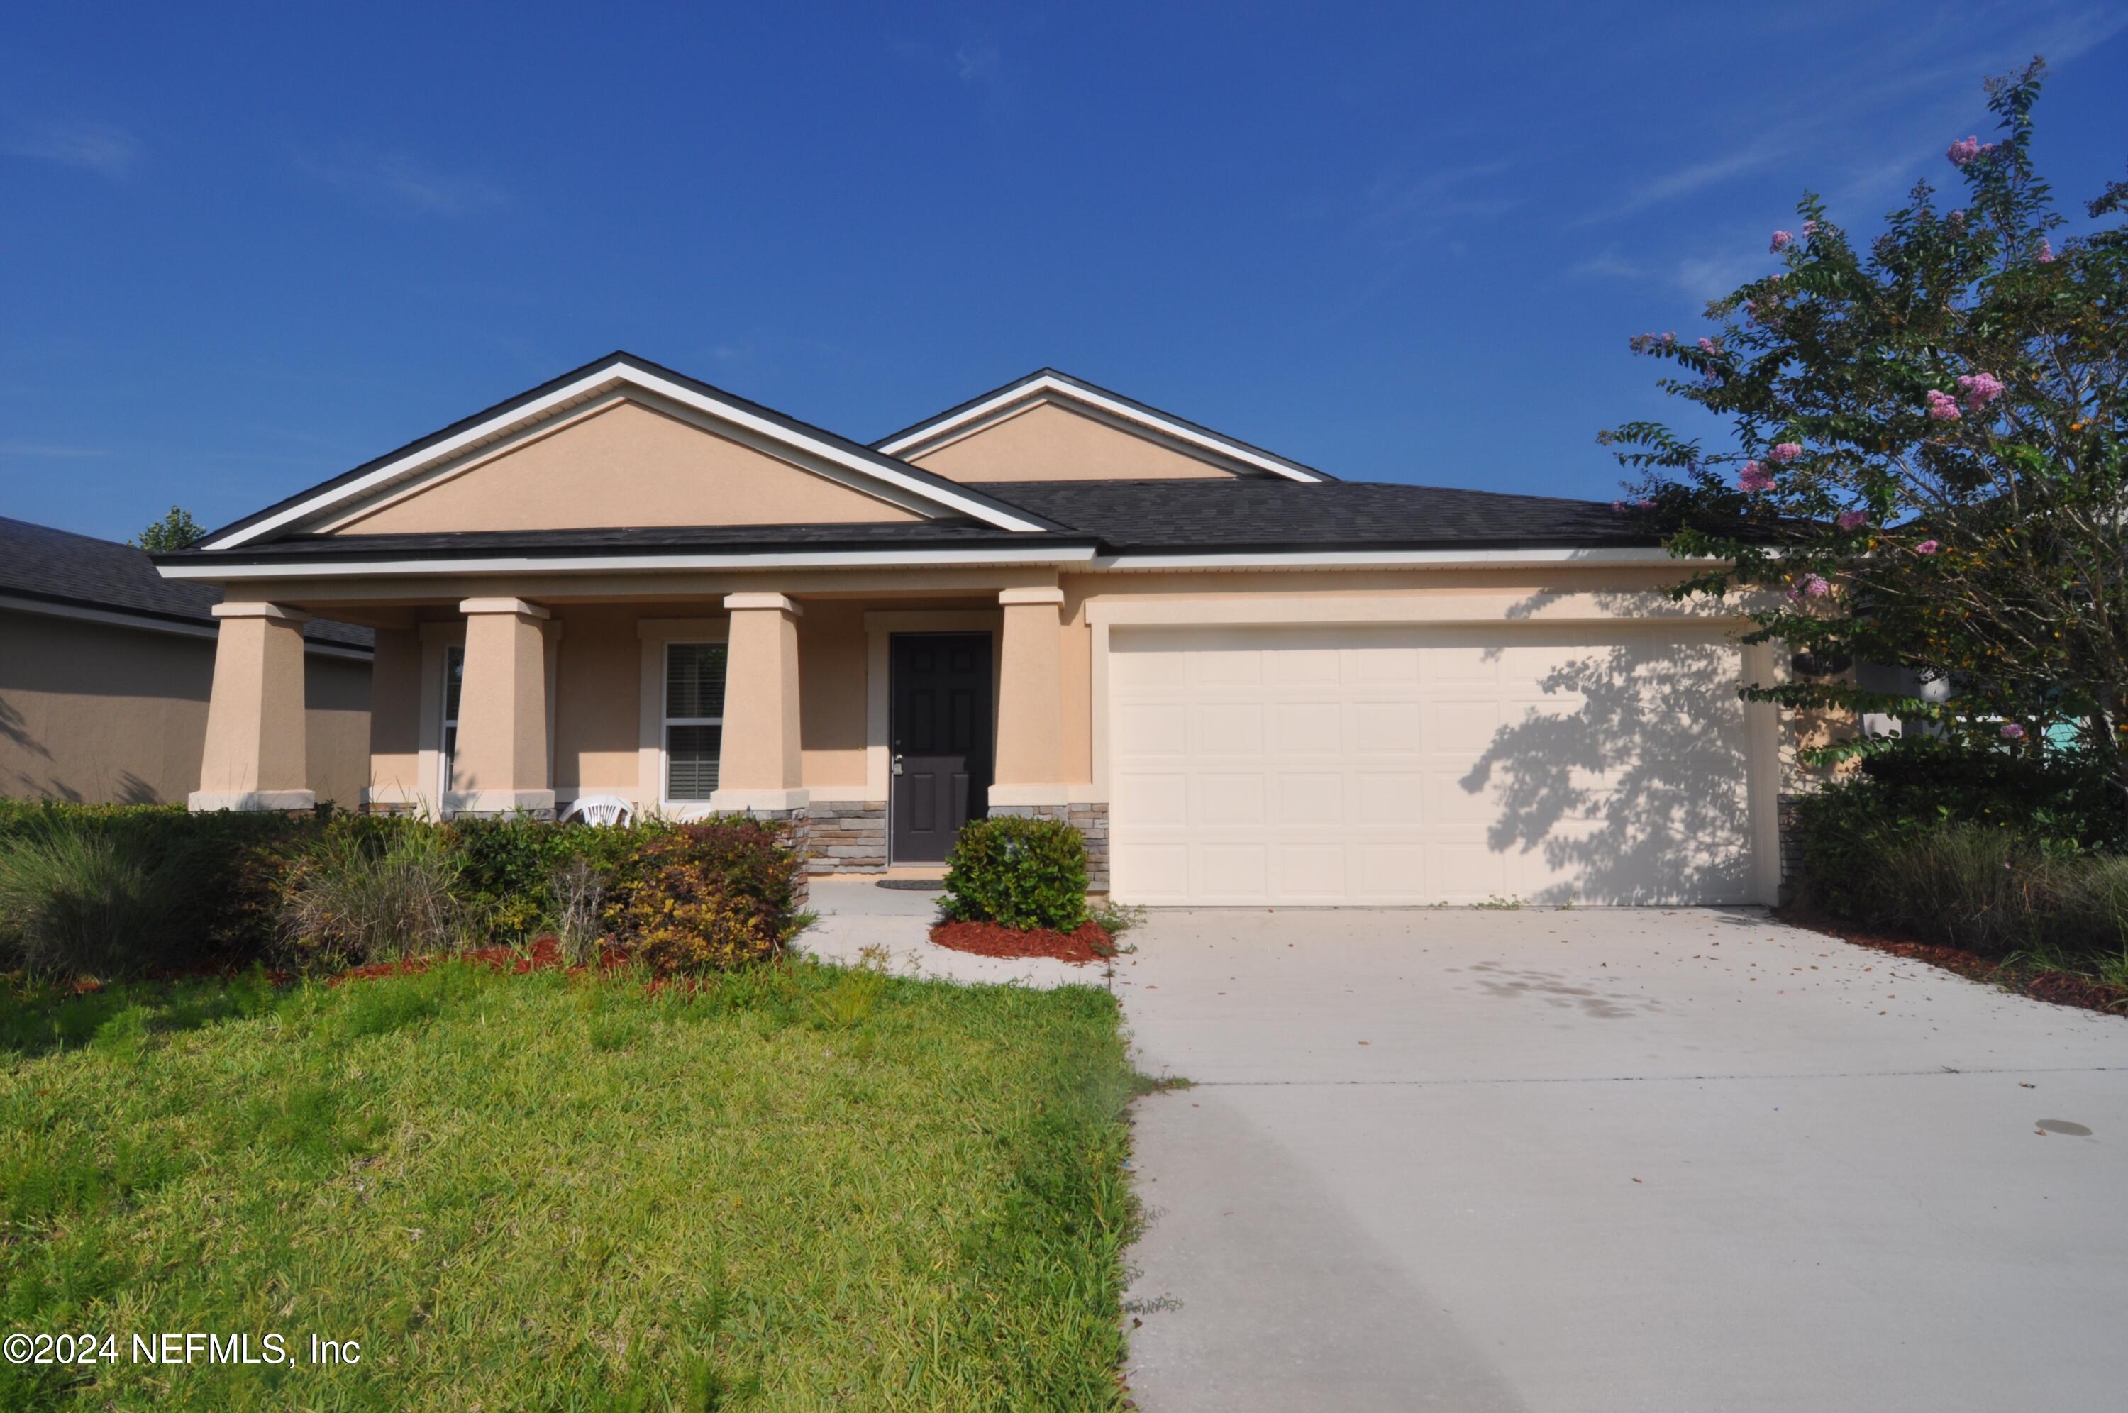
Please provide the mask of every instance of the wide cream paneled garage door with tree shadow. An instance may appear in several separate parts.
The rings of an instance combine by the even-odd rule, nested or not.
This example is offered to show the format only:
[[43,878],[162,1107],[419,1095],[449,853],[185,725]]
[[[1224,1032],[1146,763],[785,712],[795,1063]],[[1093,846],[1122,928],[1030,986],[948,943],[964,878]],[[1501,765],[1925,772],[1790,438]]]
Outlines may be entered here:
[[1739,677],[1677,624],[1115,628],[1115,896],[1751,900]]

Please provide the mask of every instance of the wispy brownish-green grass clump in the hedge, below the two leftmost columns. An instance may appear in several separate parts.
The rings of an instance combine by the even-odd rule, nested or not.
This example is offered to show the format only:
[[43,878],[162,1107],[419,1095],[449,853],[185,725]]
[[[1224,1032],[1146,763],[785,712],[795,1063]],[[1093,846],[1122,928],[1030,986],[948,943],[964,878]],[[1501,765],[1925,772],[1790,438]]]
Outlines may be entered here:
[[330,834],[281,883],[283,955],[336,968],[451,951],[466,938],[462,872],[440,830]]

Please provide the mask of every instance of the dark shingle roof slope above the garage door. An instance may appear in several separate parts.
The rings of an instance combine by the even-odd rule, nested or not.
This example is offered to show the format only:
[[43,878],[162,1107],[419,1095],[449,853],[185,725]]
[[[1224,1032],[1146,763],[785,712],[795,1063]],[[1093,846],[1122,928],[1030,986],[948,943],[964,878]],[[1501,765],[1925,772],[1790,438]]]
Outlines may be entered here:
[[1204,479],[996,481],[981,489],[1094,534],[1115,551],[1658,543],[1647,526],[1596,500],[1441,485]]

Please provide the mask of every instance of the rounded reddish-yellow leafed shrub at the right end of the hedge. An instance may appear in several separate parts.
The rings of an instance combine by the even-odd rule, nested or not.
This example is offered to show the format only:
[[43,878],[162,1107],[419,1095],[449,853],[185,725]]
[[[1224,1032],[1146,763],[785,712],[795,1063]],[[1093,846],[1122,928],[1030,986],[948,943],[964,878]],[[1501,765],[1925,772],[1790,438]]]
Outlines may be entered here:
[[660,973],[764,962],[802,926],[798,866],[781,832],[755,819],[660,830],[615,870],[606,924]]

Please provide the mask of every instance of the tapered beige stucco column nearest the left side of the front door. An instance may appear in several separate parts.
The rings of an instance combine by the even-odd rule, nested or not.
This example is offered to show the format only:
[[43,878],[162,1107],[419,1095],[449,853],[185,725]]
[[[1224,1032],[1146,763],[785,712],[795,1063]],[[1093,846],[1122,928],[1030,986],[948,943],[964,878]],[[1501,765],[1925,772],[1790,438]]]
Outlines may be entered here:
[[[783,594],[726,594],[724,747],[715,811],[804,809],[798,751],[798,615]],[[851,692],[855,692],[851,683]]]

